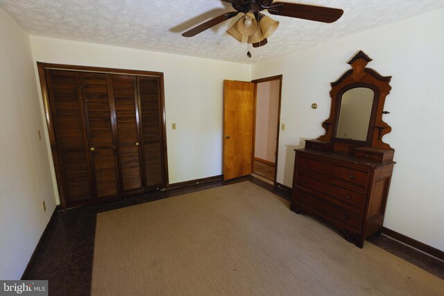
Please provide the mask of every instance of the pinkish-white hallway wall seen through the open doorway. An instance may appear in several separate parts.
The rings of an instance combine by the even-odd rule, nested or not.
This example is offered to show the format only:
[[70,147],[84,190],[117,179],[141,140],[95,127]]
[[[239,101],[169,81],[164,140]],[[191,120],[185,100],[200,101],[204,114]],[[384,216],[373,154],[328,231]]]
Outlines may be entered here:
[[280,80],[257,84],[255,157],[275,163]]

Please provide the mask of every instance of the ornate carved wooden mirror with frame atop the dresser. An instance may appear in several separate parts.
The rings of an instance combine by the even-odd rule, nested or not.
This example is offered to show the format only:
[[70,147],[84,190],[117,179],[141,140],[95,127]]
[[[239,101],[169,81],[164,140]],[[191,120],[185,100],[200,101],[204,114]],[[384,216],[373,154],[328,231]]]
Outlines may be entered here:
[[357,147],[391,149],[382,141],[391,131],[382,121],[385,98],[391,77],[366,68],[372,59],[359,51],[348,62],[352,69],[332,82],[330,118],[323,122],[325,134],[318,138],[330,143],[332,150],[351,153]]

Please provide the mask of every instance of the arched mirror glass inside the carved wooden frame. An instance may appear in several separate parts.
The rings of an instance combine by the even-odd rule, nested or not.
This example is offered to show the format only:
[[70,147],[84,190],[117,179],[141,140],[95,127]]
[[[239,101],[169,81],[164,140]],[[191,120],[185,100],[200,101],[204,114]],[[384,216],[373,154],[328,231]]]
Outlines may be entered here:
[[336,138],[366,141],[373,107],[373,89],[355,87],[341,98]]

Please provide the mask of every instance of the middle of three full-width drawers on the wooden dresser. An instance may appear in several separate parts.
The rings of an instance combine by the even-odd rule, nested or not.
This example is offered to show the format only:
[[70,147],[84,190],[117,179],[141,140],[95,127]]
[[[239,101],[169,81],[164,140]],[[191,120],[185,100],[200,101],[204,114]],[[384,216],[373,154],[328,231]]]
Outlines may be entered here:
[[330,178],[309,171],[298,170],[296,184],[308,189],[329,195],[334,200],[350,204],[355,211],[361,211],[364,203],[364,193],[345,189]]

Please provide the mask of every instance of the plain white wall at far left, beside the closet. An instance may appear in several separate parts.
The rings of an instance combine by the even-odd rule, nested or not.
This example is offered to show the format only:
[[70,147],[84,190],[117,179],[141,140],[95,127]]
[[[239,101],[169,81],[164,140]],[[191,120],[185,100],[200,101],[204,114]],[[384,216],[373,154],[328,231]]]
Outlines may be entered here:
[[56,198],[31,42],[1,8],[0,105],[0,279],[20,279]]

